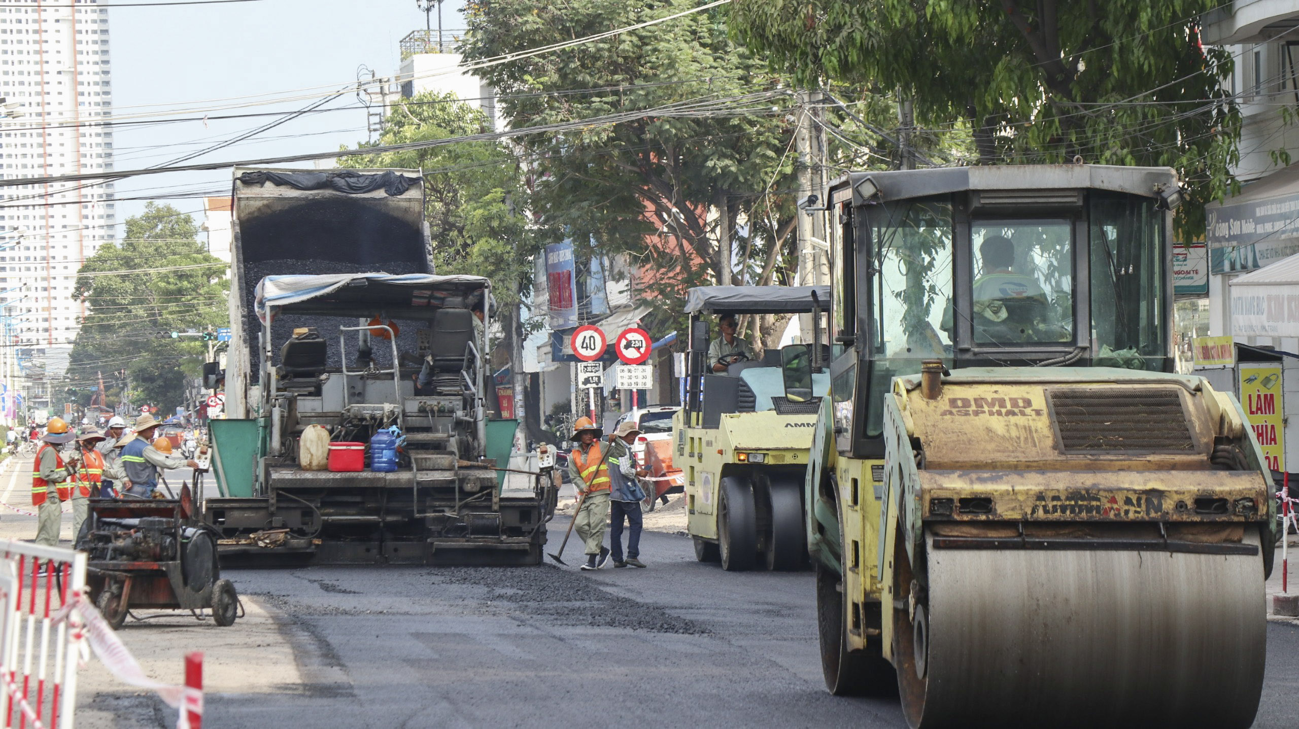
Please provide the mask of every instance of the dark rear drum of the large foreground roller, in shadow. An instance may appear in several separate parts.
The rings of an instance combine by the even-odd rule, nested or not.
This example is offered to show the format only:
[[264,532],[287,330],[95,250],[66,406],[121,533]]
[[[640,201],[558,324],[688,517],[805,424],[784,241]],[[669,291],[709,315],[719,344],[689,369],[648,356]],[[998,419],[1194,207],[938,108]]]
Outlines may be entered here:
[[898,677],[885,660],[878,638],[866,639],[866,650],[850,651],[844,628],[847,600],[839,591],[839,574],[816,565],[817,638],[821,643],[821,673],[835,697],[895,697]]

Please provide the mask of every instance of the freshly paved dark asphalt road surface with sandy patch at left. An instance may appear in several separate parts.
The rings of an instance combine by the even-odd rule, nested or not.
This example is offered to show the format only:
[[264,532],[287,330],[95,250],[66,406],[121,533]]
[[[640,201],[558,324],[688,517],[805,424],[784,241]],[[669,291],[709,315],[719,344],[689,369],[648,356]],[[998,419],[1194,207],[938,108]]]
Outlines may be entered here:
[[[9,511],[0,534],[29,537],[34,521]],[[162,681],[205,650],[209,726],[904,726],[895,700],[825,693],[811,573],[726,573],[672,533],[646,533],[642,559],[595,573],[227,570],[248,608],[234,628],[174,615],[121,634]],[[96,660],[82,677],[78,726],[174,725]],[[1269,624],[1256,726],[1299,726],[1296,697],[1299,626]]]

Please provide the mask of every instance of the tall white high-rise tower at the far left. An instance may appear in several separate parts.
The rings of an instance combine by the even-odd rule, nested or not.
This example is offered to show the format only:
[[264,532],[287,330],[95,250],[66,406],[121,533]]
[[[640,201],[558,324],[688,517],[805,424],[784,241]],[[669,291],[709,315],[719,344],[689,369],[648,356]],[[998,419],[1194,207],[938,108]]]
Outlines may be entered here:
[[[109,170],[108,10],[95,0],[40,5],[0,0],[0,175]],[[14,313],[5,321],[48,376],[65,369],[83,314],[71,299],[77,269],[113,239],[114,224],[112,183],[0,188],[0,300]]]

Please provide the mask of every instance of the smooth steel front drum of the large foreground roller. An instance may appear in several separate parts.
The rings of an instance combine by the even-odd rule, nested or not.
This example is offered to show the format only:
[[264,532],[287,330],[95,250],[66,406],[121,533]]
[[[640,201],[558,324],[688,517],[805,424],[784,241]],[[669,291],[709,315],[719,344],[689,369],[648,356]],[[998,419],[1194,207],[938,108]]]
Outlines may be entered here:
[[1267,629],[1260,555],[935,550],[931,537],[927,555],[916,620],[927,622],[927,651],[899,611],[913,726],[1254,723]]

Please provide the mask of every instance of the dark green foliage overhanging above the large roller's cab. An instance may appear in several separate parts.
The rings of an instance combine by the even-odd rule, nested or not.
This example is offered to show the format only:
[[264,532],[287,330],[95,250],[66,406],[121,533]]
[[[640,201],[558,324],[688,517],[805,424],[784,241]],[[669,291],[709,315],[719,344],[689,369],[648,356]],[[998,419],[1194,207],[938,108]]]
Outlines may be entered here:
[[734,0],[731,30],[798,83],[865,84],[965,129],[981,164],[1167,165],[1183,235],[1235,185],[1233,58],[1195,23],[1218,0]]

